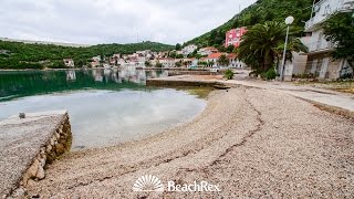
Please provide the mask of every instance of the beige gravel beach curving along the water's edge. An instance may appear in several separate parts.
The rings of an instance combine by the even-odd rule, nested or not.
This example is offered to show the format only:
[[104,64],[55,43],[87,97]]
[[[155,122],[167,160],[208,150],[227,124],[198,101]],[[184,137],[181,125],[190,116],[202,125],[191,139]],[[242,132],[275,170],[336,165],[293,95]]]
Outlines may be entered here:
[[[279,91],[215,91],[191,123],[121,146],[72,153],[29,185],[41,198],[353,198],[354,125]],[[133,192],[206,180],[220,192]]]

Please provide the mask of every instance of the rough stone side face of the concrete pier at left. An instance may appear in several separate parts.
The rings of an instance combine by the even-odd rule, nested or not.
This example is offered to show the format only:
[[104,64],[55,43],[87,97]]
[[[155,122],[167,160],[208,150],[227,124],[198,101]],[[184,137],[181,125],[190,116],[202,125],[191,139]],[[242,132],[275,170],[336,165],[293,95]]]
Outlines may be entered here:
[[24,171],[19,187],[12,192],[12,197],[25,196],[25,187],[31,181],[38,181],[45,178],[45,168],[48,164],[53,163],[58,157],[69,151],[72,144],[72,132],[67,113],[62,116],[55,130],[50,133],[50,138],[44,143],[31,166]]

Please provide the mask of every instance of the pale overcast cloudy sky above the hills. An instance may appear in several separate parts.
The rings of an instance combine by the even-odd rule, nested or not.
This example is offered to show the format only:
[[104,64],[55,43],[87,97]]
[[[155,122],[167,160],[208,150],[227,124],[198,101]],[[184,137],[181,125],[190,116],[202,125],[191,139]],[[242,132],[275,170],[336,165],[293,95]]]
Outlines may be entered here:
[[256,0],[0,0],[0,38],[80,44],[176,44]]

